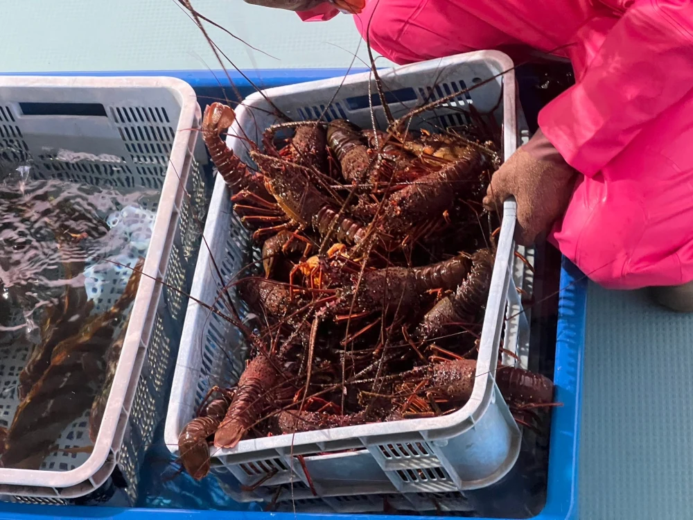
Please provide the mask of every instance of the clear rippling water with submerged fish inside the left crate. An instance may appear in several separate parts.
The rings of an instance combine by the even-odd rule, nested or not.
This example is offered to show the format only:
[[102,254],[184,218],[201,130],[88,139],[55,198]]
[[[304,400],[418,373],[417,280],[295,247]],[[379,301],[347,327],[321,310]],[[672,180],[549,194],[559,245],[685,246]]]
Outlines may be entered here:
[[158,190],[0,164],[0,464],[64,471],[98,435]]

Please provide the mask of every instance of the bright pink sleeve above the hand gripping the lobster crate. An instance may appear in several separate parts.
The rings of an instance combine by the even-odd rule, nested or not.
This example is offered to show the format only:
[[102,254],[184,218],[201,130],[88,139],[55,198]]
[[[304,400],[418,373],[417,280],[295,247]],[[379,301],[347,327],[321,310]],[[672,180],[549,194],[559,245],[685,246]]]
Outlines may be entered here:
[[576,85],[539,114],[563,158],[592,177],[693,89],[693,2],[624,0]]

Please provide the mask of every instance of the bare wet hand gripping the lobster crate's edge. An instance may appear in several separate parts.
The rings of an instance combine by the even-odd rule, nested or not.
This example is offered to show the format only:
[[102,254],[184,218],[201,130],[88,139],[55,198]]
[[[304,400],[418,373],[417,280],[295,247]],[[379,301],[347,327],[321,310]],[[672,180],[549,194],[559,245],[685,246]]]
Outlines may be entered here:
[[[545,140],[541,134],[536,137]],[[545,153],[547,146],[554,153]],[[543,141],[541,148],[539,154],[528,153],[525,146],[519,148],[493,174],[484,197],[484,207],[489,211],[501,209],[509,196],[515,197],[519,228],[516,241],[521,245],[532,245],[563,216],[577,175],[548,141]]]

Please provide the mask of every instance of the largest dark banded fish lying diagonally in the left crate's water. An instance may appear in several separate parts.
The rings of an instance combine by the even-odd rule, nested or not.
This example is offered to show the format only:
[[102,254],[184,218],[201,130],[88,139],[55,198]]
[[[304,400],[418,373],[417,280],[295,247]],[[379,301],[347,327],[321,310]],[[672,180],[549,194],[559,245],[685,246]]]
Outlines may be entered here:
[[58,435],[94,402],[103,383],[106,351],[137,293],[143,262],[111,309],[89,317],[76,335],[55,346],[48,369],[17,408],[0,460],[3,467],[38,469]]

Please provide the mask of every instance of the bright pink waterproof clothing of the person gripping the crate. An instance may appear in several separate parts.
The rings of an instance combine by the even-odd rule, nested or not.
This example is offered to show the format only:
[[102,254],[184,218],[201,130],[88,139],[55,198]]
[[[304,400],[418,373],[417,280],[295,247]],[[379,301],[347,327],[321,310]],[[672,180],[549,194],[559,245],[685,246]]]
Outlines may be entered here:
[[[303,19],[329,19],[329,4]],[[614,288],[693,279],[693,0],[369,0],[362,35],[411,63],[480,49],[569,58],[539,114],[582,175],[550,240]]]

